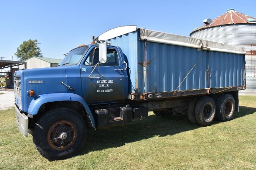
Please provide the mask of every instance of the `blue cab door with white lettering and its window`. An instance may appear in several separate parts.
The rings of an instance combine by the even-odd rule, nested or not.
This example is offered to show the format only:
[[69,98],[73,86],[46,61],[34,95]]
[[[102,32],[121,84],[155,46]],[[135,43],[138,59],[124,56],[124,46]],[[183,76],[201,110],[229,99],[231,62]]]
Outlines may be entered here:
[[99,63],[99,48],[90,49],[81,62],[82,96],[88,104],[123,101],[128,92],[128,76],[121,52],[108,47],[106,63]]

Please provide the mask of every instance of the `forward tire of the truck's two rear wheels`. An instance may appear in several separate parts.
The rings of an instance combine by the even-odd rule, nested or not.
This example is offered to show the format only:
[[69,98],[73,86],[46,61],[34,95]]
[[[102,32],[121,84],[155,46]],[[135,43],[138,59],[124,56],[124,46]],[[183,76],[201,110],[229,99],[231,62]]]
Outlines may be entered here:
[[198,124],[209,126],[213,124],[216,115],[216,105],[212,98],[203,96],[195,105],[195,119]]

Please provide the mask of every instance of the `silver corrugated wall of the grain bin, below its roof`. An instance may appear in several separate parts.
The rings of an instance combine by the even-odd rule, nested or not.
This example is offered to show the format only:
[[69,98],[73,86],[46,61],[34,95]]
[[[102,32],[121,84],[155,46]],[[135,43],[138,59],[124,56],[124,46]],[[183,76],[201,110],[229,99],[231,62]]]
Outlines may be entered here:
[[236,24],[209,27],[195,31],[191,37],[242,46],[246,49],[246,90],[241,93],[256,92],[256,25]]

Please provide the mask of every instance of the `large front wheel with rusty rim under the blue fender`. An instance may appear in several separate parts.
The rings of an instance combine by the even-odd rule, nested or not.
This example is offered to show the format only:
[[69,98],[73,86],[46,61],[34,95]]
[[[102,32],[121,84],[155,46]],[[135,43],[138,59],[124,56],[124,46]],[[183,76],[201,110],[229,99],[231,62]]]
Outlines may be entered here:
[[33,142],[48,160],[74,156],[85,144],[86,123],[75,111],[58,108],[47,111],[35,124]]

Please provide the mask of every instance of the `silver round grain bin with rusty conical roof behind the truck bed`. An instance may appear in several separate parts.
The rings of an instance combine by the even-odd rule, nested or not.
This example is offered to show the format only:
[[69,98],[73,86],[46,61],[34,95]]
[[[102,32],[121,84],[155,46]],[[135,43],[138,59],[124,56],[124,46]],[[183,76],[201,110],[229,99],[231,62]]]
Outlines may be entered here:
[[256,93],[256,18],[234,9],[214,20],[203,20],[205,25],[195,28],[191,37],[242,46],[246,49],[246,88],[240,93]]

